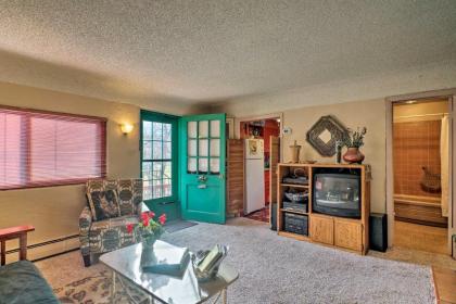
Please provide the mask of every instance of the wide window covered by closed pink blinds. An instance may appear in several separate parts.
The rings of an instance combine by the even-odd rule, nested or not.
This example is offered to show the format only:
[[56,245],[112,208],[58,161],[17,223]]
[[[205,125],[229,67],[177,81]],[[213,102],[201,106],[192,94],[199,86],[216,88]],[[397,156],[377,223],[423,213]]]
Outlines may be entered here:
[[105,176],[106,119],[0,107],[0,190]]

